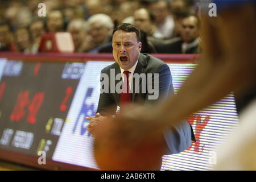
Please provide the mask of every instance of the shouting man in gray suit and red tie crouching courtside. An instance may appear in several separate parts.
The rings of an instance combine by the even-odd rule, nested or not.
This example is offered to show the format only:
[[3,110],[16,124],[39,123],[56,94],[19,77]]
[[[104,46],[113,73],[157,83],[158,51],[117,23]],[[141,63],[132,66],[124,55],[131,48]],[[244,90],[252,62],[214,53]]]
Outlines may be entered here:
[[[114,81],[109,80],[105,85],[101,82],[104,92],[101,90],[97,114],[95,117],[86,118],[90,120],[87,130],[91,134],[94,134],[95,127],[104,116],[115,114],[117,106],[122,111],[123,105],[129,102],[152,105],[174,93],[168,65],[156,57],[140,53],[142,44],[137,27],[128,23],[120,24],[113,31],[112,40],[115,63],[102,69],[101,78],[104,76],[103,81],[108,78]],[[120,90],[119,93],[116,88],[120,80],[115,80],[118,75],[122,83],[122,92]],[[136,80],[135,77],[138,76],[142,77]],[[163,137],[166,154],[177,154],[185,150],[191,145],[191,139],[195,139],[192,127],[187,121],[163,131]]]

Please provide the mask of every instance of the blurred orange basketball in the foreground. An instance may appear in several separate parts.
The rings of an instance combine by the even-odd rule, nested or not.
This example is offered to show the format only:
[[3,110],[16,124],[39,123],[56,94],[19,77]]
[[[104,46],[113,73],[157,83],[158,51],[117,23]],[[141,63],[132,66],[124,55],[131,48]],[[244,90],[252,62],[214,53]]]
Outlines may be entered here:
[[162,166],[166,149],[162,131],[144,113],[136,114],[144,120],[137,120],[134,112],[133,117],[123,113],[104,118],[96,128],[93,152],[101,170],[159,170]]

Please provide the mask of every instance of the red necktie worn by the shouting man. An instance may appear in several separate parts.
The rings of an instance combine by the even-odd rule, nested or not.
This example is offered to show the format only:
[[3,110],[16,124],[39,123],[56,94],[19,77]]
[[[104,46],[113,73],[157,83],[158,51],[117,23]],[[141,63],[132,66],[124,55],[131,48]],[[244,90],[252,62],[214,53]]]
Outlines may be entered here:
[[120,109],[122,109],[122,106],[125,104],[128,104],[131,102],[131,92],[129,87],[129,71],[124,71],[123,75],[123,87],[122,87],[122,93],[120,97]]

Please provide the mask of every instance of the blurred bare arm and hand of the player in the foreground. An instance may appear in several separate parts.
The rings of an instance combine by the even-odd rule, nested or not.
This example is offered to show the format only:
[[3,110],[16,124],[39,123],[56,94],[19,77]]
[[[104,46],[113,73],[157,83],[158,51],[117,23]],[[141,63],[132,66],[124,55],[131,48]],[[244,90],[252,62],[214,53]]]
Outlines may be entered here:
[[[246,3],[226,8],[217,17],[203,15],[204,53],[199,66],[179,92],[164,104],[156,106],[154,110],[131,106],[118,115],[112,137],[125,140],[127,144],[134,146],[153,131],[175,125],[189,114],[213,104],[226,94],[242,93],[254,84],[255,17],[255,7]],[[125,137],[118,138],[119,134]]]

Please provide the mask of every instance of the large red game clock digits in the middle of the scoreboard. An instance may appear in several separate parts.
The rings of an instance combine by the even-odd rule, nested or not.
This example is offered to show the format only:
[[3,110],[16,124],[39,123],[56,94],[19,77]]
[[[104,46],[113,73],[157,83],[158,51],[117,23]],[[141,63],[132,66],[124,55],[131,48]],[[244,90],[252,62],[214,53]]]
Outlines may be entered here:
[[11,121],[20,121],[26,115],[26,107],[28,107],[27,122],[34,124],[36,122],[36,114],[40,109],[44,100],[44,93],[36,93],[30,102],[28,91],[22,91],[18,94],[13,113],[10,116]]

